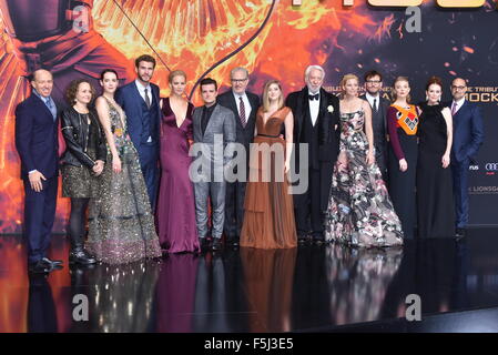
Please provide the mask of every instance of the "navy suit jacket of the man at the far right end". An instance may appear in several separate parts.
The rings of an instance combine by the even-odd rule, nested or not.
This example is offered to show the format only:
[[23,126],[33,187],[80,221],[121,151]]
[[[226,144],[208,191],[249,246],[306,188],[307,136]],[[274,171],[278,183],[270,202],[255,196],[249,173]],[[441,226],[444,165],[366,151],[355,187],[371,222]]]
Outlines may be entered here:
[[[451,110],[451,101],[446,103]],[[477,152],[485,139],[482,113],[480,108],[465,100],[453,118],[451,156],[457,162],[469,159],[476,162]]]

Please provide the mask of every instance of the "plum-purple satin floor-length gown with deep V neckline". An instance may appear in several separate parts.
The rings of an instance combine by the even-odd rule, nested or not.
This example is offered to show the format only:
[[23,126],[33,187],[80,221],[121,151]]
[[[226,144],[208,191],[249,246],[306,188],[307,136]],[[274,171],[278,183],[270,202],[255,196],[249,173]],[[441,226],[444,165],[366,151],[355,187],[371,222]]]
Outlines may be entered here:
[[185,120],[176,124],[170,99],[163,99],[161,119],[161,183],[156,224],[161,246],[169,253],[197,252],[194,187],[189,178],[189,140],[192,140],[193,104],[189,103]]

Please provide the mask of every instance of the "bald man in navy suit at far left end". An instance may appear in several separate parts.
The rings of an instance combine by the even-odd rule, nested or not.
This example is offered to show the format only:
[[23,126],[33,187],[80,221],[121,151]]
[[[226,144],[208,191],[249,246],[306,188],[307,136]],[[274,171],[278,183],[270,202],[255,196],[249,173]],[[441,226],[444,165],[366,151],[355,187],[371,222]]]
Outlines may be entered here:
[[50,97],[52,74],[43,69],[34,71],[31,85],[32,94],[16,108],[16,148],[24,182],[28,267],[32,273],[47,273],[62,264],[47,257],[59,175],[58,112]]

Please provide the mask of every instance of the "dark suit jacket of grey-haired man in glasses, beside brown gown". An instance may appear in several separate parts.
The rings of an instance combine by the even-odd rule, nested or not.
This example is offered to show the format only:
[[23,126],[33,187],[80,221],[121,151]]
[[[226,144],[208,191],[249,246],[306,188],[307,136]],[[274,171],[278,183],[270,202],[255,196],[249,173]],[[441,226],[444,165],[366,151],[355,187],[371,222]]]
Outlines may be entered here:
[[248,153],[250,143],[254,140],[254,128],[256,126],[256,113],[260,108],[260,97],[246,91],[247,100],[251,104],[251,114],[247,118],[247,123],[242,126],[242,122],[238,118],[237,103],[235,102],[235,97],[232,90],[228,90],[217,97],[216,101],[218,104],[232,110],[235,118],[235,128],[236,128],[236,142],[244,144],[246,149],[246,153]]

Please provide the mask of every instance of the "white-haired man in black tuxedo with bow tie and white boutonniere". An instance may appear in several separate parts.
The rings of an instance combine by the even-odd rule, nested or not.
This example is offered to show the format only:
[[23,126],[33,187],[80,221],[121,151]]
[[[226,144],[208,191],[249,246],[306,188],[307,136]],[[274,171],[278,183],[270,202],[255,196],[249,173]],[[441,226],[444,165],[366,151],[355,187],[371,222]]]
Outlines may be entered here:
[[[297,237],[301,242],[309,233],[315,242],[324,241],[324,212],[339,149],[339,100],[322,88],[324,78],[322,67],[308,67],[305,72],[306,87],[292,92],[286,100],[294,114],[295,164],[296,168],[306,169],[309,179],[306,192],[294,194]],[[308,156],[299,156],[299,145],[303,143],[308,145]],[[296,173],[306,176],[297,169]]]

